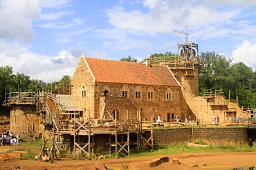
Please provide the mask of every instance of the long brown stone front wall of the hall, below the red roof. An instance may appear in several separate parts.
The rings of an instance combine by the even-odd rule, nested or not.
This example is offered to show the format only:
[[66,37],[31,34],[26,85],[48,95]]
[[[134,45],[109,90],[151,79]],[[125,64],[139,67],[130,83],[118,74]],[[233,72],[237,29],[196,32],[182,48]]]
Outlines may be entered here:
[[[110,96],[118,98],[119,94],[122,92],[122,89],[127,89],[127,100],[129,101],[129,105],[134,105],[138,111],[140,111],[143,116],[147,120],[150,120],[152,114],[155,117],[158,114],[161,114],[161,118],[164,121],[167,121],[168,114],[179,114],[179,116],[184,120],[185,114],[190,114],[190,109],[188,105],[185,103],[183,96],[181,94],[180,87],[162,87],[162,86],[150,86],[150,85],[125,85],[120,83],[97,83],[95,85],[95,109],[97,111],[95,116],[97,118],[100,117],[100,107],[103,105],[103,101],[99,98],[104,95],[104,91],[108,91]],[[167,89],[172,90],[172,98],[167,99]],[[136,92],[140,90],[140,98],[136,98]],[[148,92],[152,90],[153,98],[148,98]],[[109,98],[110,99],[110,98]],[[113,98],[114,99],[114,98]],[[112,99],[111,99],[112,100]],[[111,100],[106,100],[107,109],[109,111],[113,111],[114,109],[118,109],[119,112],[124,108],[128,108],[127,102],[112,102]],[[123,104],[123,105],[122,105]],[[129,107],[131,108],[131,107]],[[132,109],[132,108],[131,108]],[[126,113],[126,110],[125,110]]]

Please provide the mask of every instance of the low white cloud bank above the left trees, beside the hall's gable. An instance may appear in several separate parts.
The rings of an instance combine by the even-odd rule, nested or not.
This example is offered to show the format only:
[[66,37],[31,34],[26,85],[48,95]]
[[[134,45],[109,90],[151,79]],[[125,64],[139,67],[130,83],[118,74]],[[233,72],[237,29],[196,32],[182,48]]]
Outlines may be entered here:
[[[6,50],[3,50],[3,49]],[[13,50],[13,51],[11,51]],[[60,81],[62,76],[72,76],[79,58],[62,50],[55,56],[35,54],[17,43],[0,43],[0,66],[11,66],[17,72],[48,83]]]

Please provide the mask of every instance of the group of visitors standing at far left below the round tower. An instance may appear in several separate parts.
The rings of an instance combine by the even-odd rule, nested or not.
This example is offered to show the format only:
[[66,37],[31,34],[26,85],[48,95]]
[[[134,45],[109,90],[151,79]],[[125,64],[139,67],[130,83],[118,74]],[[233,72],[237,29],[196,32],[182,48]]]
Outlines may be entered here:
[[8,133],[6,131],[2,132],[0,136],[0,145],[10,146],[10,145],[19,145],[19,134],[13,134],[12,132]]

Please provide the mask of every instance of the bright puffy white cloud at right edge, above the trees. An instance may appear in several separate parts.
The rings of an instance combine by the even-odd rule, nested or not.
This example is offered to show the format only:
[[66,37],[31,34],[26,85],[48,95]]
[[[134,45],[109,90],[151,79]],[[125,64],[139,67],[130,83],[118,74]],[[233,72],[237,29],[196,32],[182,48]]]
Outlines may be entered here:
[[245,65],[256,70],[256,42],[244,41],[242,45],[232,52],[235,63],[243,62]]

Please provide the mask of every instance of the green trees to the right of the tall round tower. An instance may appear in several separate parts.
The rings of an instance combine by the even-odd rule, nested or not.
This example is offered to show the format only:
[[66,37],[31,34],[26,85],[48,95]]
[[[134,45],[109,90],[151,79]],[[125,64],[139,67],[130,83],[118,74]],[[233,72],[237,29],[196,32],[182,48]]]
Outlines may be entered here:
[[203,89],[222,89],[226,99],[239,100],[240,107],[256,107],[256,72],[242,62],[235,63],[225,55],[202,52],[199,93]]

